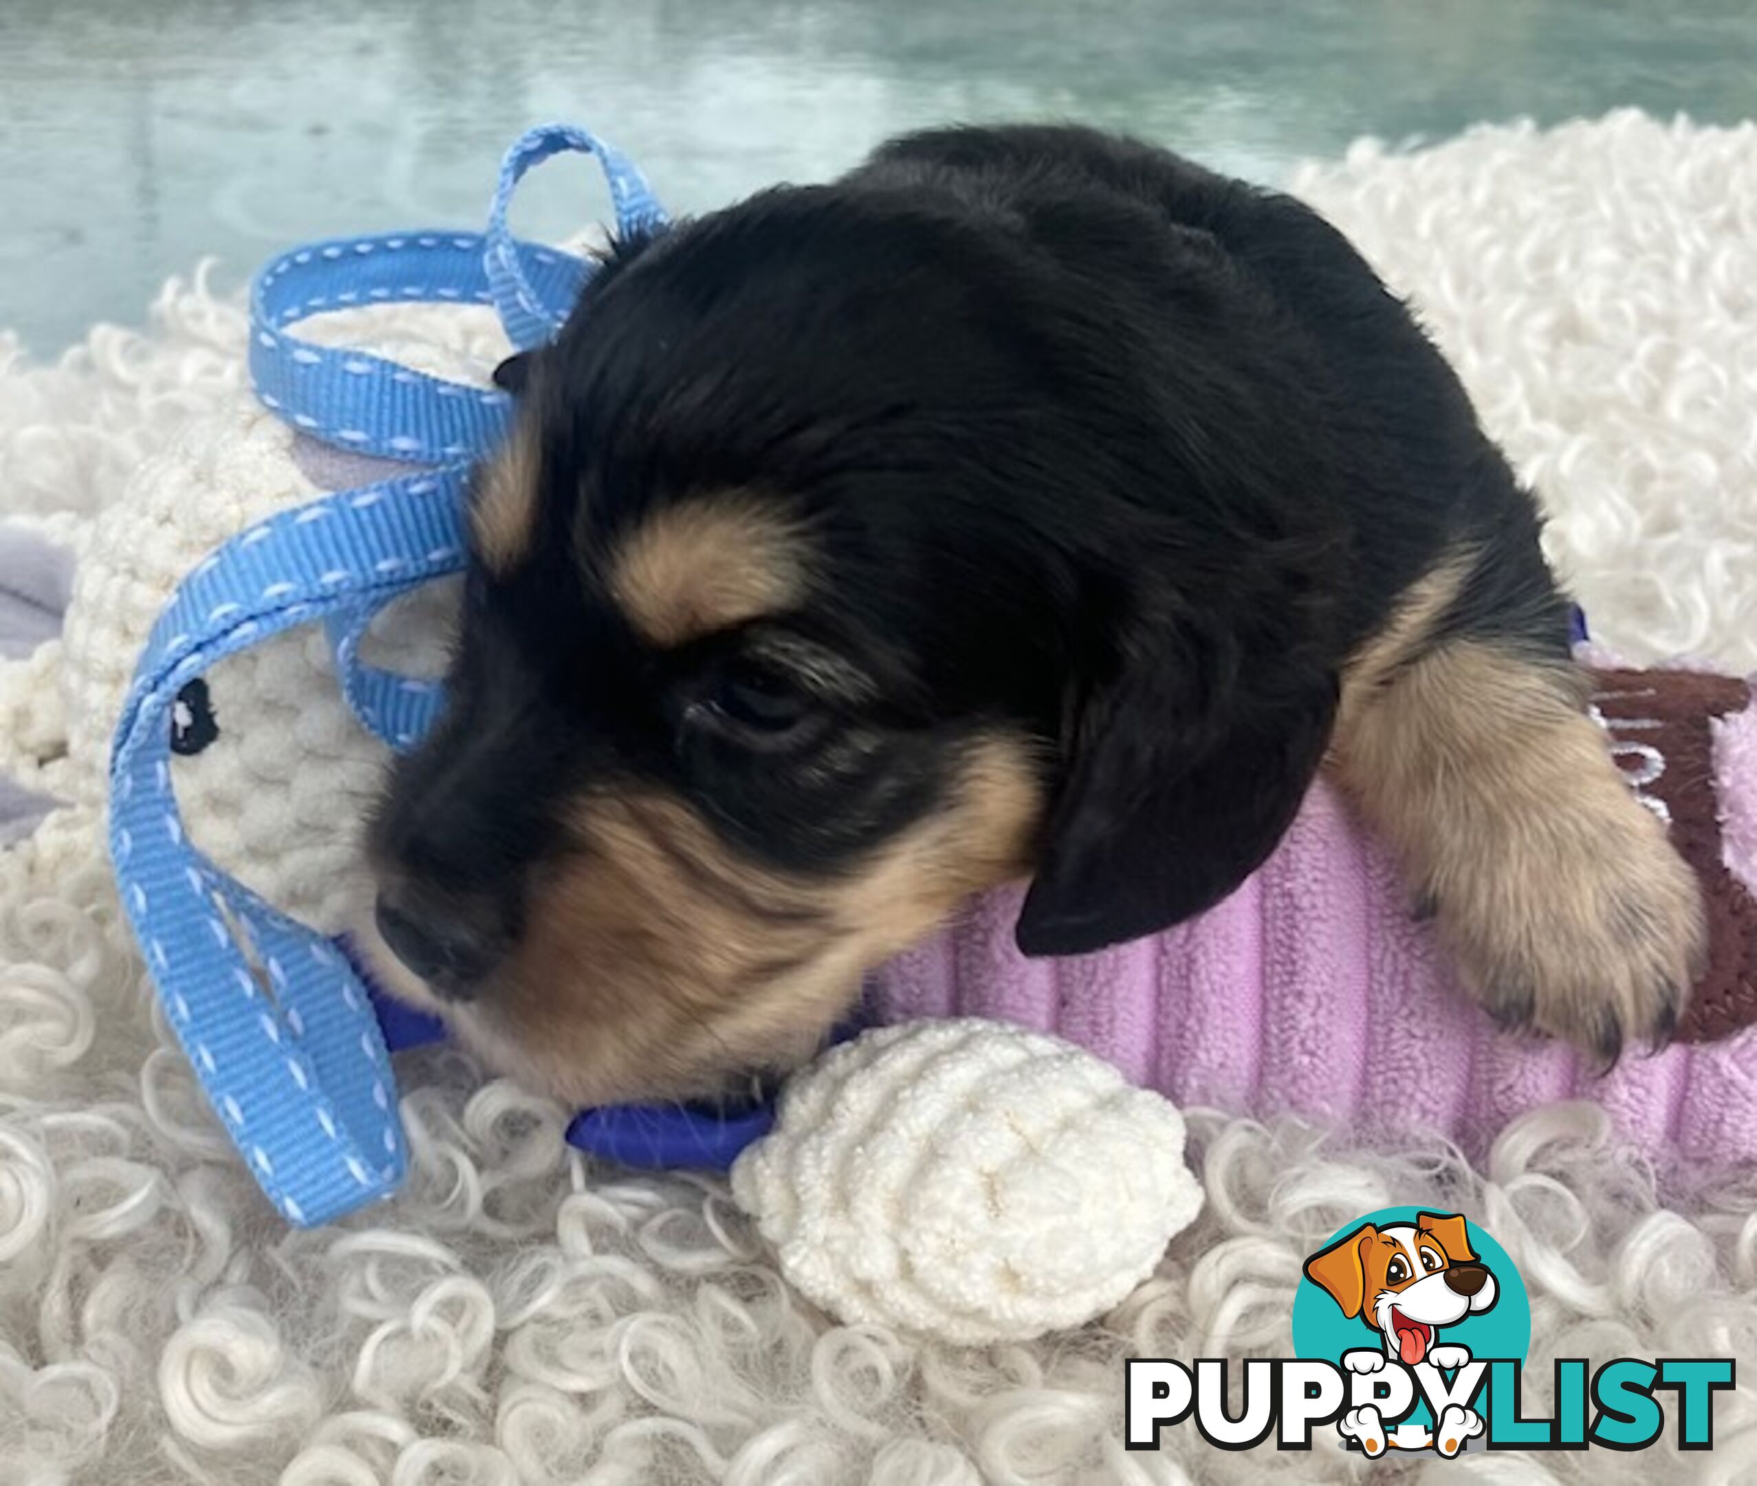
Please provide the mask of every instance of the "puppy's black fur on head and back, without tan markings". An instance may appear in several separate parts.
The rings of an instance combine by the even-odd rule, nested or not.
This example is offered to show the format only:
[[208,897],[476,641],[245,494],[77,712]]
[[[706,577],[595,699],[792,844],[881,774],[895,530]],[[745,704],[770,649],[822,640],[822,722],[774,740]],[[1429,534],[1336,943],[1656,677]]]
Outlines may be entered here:
[[[752,860],[833,874],[1003,730],[1051,798],[1019,943],[1093,950],[1267,856],[1344,659],[1448,554],[1474,570],[1441,633],[1565,656],[1532,499],[1406,308],[1304,206],[1130,141],[921,134],[620,244],[501,380],[541,536],[471,573],[453,712],[376,839],[503,925],[560,793],[664,784]],[[727,489],[798,515],[813,589],[654,652],[594,563]]]

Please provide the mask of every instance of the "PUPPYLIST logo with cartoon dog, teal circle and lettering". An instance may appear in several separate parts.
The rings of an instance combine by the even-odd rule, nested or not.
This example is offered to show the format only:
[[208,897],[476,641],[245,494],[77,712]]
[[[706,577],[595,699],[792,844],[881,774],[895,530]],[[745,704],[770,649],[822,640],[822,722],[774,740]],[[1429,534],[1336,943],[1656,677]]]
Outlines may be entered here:
[[1337,1229],[1293,1294],[1297,1358],[1253,1358],[1237,1416],[1228,1363],[1132,1358],[1130,1449],[1189,1424],[1221,1449],[1311,1449],[1328,1426],[1369,1458],[1467,1449],[1638,1451],[1660,1439],[1669,1393],[1678,1449],[1713,1449],[1715,1395],[1732,1358],[1558,1358],[1550,1416],[1527,1414],[1530,1303],[1508,1252],[1462,1213],[1385,1208]]

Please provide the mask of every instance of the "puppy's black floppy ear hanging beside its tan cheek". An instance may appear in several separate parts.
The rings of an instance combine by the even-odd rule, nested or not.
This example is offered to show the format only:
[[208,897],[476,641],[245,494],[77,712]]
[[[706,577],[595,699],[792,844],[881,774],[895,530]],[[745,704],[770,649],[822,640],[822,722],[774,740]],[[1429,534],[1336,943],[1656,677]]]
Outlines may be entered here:
[[1274,851],[1330,742],[1335,672],[1270,633],[1188,616],[1139,628],[1070,707],[1014,930],[1026,955],[1102,950],[1212,907]]

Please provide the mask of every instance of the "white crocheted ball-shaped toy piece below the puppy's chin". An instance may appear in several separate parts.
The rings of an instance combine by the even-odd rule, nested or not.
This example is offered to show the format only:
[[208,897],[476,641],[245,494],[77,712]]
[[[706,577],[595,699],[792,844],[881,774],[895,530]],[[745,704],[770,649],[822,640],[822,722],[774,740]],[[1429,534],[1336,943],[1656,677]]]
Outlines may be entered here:
[[734,1164],[733,1196],[817,1305],[961,1344],[1110,1310],[1202,1206],[1170,1103],[980,1018],[828,1052]]

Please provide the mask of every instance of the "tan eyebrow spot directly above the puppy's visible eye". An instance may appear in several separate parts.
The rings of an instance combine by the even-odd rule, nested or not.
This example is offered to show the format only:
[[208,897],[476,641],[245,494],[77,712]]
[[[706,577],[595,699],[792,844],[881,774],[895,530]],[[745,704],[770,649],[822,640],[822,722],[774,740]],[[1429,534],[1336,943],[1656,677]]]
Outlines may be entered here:
[[799,529],[771,505],[736,492],[655,512],[610,563],[610,593],[661,647],[787,608],[803,587]]

